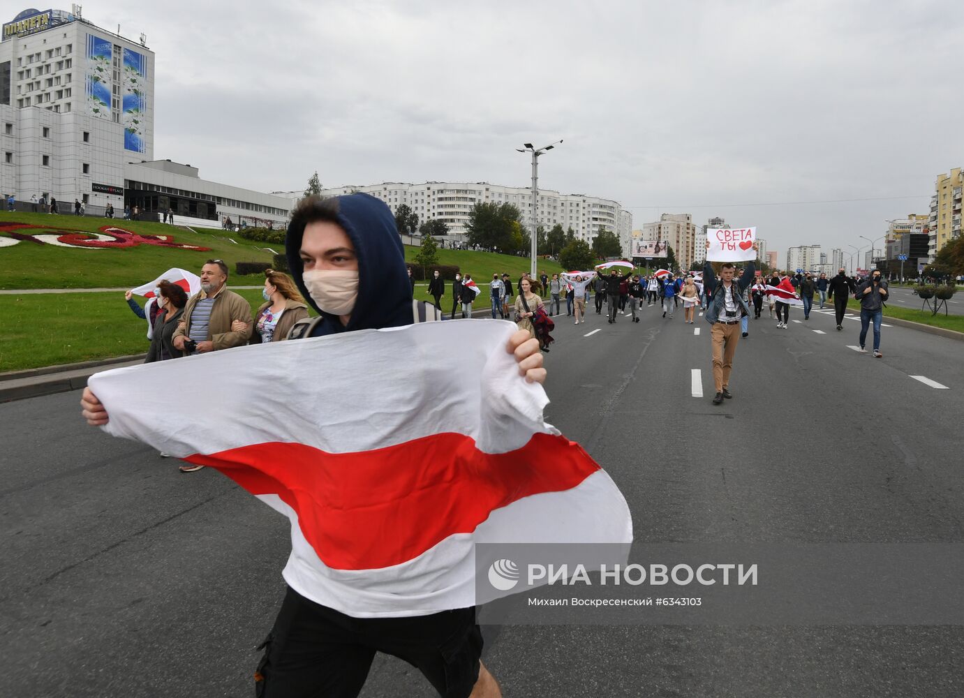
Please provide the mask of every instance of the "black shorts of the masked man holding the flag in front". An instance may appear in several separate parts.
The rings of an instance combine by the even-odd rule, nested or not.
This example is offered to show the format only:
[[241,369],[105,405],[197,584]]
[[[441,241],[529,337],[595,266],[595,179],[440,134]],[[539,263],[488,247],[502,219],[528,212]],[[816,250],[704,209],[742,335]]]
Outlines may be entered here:
[[482,633],[473,607],[407,618],[353,618],[288,587],[261,648],[254,693],[264,698],[354,698],[376,652],[415,666],[444,698],[466,698],[478,680]]

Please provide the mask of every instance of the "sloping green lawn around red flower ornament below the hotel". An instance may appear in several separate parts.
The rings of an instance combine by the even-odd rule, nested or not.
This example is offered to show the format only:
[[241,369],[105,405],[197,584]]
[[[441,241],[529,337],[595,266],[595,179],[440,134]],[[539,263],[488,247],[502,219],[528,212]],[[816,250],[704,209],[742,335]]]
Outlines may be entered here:
[[[181,267],[200,273],[205,259],[216,257],[228,263],[232,282],[239,285],[257,283],[257,276],[237,277],[238,261],[272,260],[269,252],[258,249],[262,243],[244,240],[223,230],[192,232],[186,228],[107,218],[50,216],[40,213],[0,213],[0,225],[8,222],[48,226],[47,230],[24,229],[26,234],[83,230],[96,232],[103,226],[116,226],[147,235],[174,235],[174,242],[211,248],[211,252],[177,250],[156,245],[139,245],[120,249],[83,250],[38,245],[23,241],[11,247],[0,247],[0,288],[97,288],[133,287],[155,279],[158,274]],[[0,236],[7,235],[0,231]],[[235,242],[231,242],[235,240]],[[272,247],[271,245],[263,245]],[[274,247],[278,252],[283,249]],[[251,281],[254,280],[254,281]],[[262,278],[263,280],[263,278]]]

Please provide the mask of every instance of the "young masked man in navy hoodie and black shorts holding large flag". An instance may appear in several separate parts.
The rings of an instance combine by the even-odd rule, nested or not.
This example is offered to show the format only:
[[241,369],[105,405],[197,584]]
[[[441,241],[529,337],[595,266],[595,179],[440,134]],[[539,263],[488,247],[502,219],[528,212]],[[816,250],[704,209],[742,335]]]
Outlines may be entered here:
[[[292,278],[320,313],[319,319],[296,325],[292,337],[299,330],[300,336],[326,336],[413,324],[415,305],[403,248],[383,201],[367,194],[308,197],[292,213],[285,248]],[[432,309],[419,304],[420,317],[425,305]],[[517,332],[506,350],[515,354],[527,381],[545,381],[537,339]],[[360,384],[367,386],[368,380],[360,372]],[[107,412],[90,389],[85,389],[81,405],[89,424],[107,423]],[[378,652],[413,664],[445,698],[501,695],[480,660],[482,635],[472,607],[356,618],[316,604],[288,586],[263,646],[255,673],[256,692],[263,698],[357,696]]]

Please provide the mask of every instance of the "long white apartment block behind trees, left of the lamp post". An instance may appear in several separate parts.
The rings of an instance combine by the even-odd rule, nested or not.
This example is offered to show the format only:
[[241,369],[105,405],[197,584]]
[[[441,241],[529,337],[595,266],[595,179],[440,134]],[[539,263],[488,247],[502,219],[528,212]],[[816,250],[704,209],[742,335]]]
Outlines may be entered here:
[[[456,242],[465,242],[469,211],[476,203],[511,203],[522,212],[522,225],[528,229],[532,226],[532,189],[529,187],[507,187],[489,182],[383,182],[323,189],[321,196],[335,197],[352,192],[364,192],[385,201],[392,213],[404,203],[418,216],[419,224],[442,221],[448,226],[445,239]],[[629,253],[632,214],[618,201],[540,189],[536,221],[546,230],[556,224],[566,230],[573,228],[576,238],[589,244],[603,228],[616,233],[624,253]]]

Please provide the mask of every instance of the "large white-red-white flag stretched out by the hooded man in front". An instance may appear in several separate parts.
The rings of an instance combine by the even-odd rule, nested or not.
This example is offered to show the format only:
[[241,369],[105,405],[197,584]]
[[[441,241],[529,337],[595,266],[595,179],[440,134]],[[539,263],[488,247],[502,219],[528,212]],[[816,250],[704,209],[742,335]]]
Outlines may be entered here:
[[355,617],[421,615],[475,604],[476,543],[632,540],[616,485],[543,420],[545,390],[506,351],[515,330],[366,330],[89,385],[108,433],[220,470],[287,516],[283,576],[299,594]]

